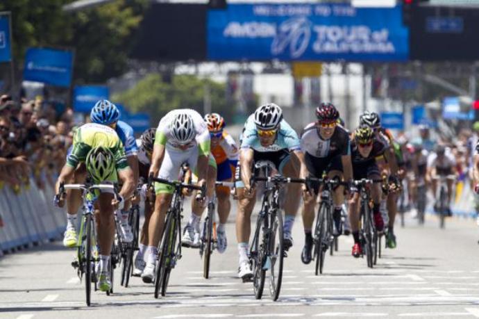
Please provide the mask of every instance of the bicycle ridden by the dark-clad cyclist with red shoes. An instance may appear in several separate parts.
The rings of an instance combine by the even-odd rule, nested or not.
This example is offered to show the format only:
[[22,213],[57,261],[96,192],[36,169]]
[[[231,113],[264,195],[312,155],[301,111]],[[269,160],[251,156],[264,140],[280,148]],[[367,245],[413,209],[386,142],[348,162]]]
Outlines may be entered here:
[[372,220],[372,209],[370,206],[369,184],[382,183],[383,179],[359,179],[353,181],[353,185],[360,193],[360,245],[361,254],[364,257],[366,252],[367,266],[373,268],[374,259],[378,255],[378,231]]

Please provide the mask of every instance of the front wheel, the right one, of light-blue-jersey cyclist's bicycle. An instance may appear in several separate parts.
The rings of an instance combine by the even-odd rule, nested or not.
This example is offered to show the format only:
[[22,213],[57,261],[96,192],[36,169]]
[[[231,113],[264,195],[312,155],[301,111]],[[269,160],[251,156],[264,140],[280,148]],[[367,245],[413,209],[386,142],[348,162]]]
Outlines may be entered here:
[[273,301],[278,300],[281,281],[283,280],[283,259],[285,247],[283,246],[283,215],[281,211],[271,214],[271,232],[269,236],[269,294]]

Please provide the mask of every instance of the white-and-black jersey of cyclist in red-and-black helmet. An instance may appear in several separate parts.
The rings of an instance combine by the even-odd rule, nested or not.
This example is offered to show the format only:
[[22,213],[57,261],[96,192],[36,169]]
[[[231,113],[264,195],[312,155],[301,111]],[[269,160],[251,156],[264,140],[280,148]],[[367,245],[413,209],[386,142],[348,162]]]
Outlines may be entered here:
[[336,126],[333,136],[328,140],[323,140],[319,136],[319,130],[314,122],[308,124],[301,134],[301,150],[314,157],[332,158],[349,155],[350,145],[348,132],[342,126]]

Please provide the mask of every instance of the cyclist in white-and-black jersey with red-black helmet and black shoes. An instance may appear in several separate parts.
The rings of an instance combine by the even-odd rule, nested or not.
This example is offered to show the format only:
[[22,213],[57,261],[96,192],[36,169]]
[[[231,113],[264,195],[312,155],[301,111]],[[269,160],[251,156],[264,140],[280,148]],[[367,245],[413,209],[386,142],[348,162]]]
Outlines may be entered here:
[[[333,104],[322,103],[316,108],[317,122],[308,124],[301,134],[301,150],[304,152],[305,164],[310,176],[322,178],[326,172],[329,179],[339,178],[351,181],[353,168],[351,166],[349,134],[338,124],[339,112]],[[344,172],[344,174],[343,174]],[[301,253],[301,261],[310,263],[313,246],[312,224],[314,222],[314,206],[319,193],[319,185],[314,185],[314,195],[305,192],[303,204],[303,226],[305,244]],[[339,186],[333,193],[335,204],[333,212],[336,236],[342,234],[341,211],[344,204],[344,187]]]

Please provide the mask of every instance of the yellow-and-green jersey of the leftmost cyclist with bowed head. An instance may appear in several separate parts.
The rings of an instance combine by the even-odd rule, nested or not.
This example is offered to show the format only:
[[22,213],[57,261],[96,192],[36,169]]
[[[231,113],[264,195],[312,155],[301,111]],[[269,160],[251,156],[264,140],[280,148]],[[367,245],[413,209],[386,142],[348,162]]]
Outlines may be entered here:
[[90,149],[98,146],[110,149],[115,157],[117,170],[128,167],[123,144],[121,144],[121,140],[115,130],[95,123],[84,124],[76,129],[73,138],[73,149],[67,158],[67,165],[76,167],[78,163],[85,162]]

